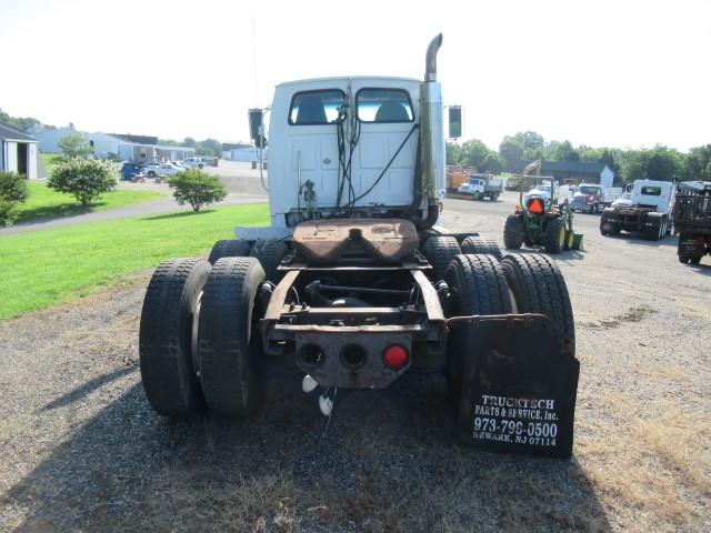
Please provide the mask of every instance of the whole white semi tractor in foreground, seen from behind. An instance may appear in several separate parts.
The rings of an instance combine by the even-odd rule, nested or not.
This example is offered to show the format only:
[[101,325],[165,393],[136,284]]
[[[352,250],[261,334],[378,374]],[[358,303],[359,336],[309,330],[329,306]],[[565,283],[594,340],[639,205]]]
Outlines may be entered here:
[[[156,270],[140,365],[153,409],[248,416],[271,369],[331,415],[338,389],[444,374],[463,445],[567,457],[579,362],[563,276],[437,225],[445,192],[437,52],[424,81],[282,83],[270,107],[271,224],[237,228],[209,261]],[[251,110],[256,144],[267,131]]]

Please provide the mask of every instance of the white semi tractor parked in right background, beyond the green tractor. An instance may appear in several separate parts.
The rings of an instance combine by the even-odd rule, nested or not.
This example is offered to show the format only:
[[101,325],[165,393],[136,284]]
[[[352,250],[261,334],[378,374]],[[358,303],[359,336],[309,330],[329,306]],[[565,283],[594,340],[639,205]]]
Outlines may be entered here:
[[610,237],[628,231],[659,241],[672,230],[673,202],[672,181],[635,180],[629,202],[620,202],[602,211],[600,233]]

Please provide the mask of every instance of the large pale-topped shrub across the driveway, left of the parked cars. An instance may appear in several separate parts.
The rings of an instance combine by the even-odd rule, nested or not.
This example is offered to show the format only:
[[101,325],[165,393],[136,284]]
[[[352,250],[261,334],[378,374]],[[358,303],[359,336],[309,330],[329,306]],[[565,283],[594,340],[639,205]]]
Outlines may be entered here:
[[59,163],[47,181],[56,191],[72,194],[82,205],[116,189],[117,167],[108,161],[71,158]]

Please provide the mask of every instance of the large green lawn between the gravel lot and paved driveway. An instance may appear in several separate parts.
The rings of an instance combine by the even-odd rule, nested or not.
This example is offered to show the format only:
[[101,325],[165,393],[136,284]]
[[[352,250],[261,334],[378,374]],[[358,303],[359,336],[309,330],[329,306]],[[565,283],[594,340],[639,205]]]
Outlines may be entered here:
[[230,205],[4,235],[0,319],[87,295],[166,259],[207,254],[234,225],[267,223],[267,205]]

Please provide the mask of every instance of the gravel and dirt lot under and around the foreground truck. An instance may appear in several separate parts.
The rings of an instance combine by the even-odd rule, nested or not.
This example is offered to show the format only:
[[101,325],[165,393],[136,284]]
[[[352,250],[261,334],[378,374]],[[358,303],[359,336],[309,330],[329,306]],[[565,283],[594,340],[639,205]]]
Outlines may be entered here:
[[[501,241],[514,197],[448,200]],[[711,266],[675,239],[602,238],[558,260],[581,361],[573,457],[464,450],[439,378],[340,393],[296,375],[247,422],[173,423],[139,382],[150,273],[0,323],[0,531],[711,531]]]

